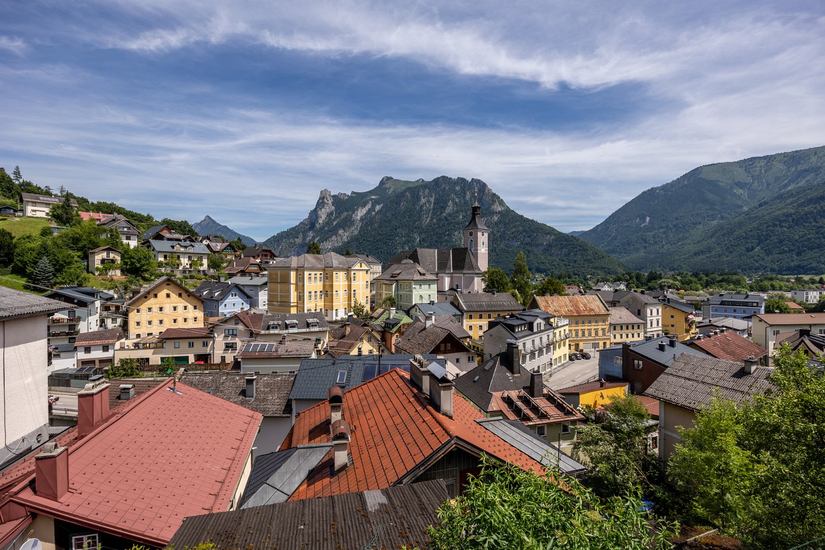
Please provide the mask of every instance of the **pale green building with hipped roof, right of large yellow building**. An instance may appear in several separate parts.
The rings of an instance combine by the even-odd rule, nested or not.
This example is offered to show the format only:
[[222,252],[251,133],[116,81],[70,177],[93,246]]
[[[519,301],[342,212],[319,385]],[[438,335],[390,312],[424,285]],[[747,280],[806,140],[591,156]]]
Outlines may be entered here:
[[434,302],[438,297],[437,286],[436,275],[409,259],[389,264],[373,280],[376,303],[384,303],[384,299],[392,297],[396,307],[404,311],[416,303]]

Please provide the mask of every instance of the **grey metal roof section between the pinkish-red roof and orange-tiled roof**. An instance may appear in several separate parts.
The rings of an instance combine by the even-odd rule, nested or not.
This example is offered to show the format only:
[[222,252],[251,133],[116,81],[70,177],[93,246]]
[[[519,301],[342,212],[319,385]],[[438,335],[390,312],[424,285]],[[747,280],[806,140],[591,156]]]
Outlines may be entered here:
[[240,507],[286,502],[329,449],[332,443],[307,444],[256,457]]

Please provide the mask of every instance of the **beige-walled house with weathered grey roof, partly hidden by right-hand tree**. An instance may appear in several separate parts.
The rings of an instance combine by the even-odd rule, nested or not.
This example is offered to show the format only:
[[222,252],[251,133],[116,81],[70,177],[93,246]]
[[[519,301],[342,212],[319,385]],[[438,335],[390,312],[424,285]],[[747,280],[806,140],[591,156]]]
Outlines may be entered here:
[[696,413],[709,407],[715,396],[742,402],[771,388],[771,369],[756,360],[728,361],[709,355],[683,354],[673,360],[645,395],[659,400],[660,456],[670,458],[681,443],[679,427],[691,428]]

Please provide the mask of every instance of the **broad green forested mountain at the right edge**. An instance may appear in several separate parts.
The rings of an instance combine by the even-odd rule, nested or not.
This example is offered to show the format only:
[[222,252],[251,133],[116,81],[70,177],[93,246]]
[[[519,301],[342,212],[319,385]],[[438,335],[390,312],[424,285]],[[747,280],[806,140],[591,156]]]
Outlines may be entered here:
[[823,273],[823,182],[825,147],[709,164],[580,237],[636,270]]

